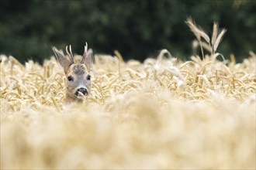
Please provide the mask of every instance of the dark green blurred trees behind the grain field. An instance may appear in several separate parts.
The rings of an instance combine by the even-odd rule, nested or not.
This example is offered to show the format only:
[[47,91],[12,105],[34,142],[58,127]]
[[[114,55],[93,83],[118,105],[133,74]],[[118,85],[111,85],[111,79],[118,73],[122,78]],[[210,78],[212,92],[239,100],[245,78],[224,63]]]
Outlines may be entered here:
[[189,59],[195,37],[185,25],[192,16],[211,35],[213,22],[227,28],[218,51],[238,61],[255,52],[254,0],[2,0],[0,53],[24,62],[42,62],[52,46],[83,53],[85,41],[95,53],[143,60],[160,49]]

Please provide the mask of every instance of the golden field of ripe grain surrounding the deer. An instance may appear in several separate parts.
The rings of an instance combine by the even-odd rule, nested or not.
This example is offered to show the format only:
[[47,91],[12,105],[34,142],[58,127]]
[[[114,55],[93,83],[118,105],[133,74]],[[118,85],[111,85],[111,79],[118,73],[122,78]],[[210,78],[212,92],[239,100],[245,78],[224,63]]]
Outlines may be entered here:
[[2,56],[1,168],[255,168],[255,54],[163,53],[144,63],[116,53],[119,66],[96,56],[91,96],[67,105],[54,58]]

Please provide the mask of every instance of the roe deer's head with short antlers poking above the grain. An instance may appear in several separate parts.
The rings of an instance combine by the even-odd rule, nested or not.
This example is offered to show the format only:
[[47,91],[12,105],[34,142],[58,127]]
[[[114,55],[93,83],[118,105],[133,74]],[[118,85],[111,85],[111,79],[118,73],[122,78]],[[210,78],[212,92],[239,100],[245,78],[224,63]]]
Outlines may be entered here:
[[91,89],[92,49],[88,49],[86,42],[85,52],[79,63],[74,61],[71,45],[69,48],[66,46],[68,58],[55,47],[53,51],[67,76],[66,102],[82,102]]

